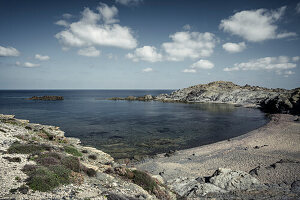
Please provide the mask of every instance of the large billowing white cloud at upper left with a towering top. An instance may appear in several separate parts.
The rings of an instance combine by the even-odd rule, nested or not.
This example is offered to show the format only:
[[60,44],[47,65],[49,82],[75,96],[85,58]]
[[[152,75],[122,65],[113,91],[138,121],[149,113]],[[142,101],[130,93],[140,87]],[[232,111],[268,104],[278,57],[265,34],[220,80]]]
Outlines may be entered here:
[[115,23],[117,8],[100,4],[98,12],[85,8],[82,18],[73,22],[55,37],[64,47],[112,46],[133,49],[137,41],[130,28]]

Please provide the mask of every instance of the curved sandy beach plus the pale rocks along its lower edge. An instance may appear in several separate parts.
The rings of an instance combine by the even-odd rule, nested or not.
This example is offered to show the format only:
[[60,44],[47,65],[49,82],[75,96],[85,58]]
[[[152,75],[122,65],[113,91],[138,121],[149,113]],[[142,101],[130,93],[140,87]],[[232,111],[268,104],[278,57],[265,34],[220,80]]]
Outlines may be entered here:
[[160,154],[136,168],[160,177],[187,199],[299,199],[299,118],[270,117],[245,135]]

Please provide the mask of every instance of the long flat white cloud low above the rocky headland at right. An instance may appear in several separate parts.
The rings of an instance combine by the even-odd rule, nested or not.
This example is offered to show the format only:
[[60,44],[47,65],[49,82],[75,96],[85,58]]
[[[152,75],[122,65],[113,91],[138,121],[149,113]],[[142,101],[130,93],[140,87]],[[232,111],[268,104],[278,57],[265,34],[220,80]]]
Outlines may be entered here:
[[248,71],[248,70],[276,70],[281,72],[282,70],[293,69],[297,67],[295,63],[290,62],[290,58],[287,56],[279,57],[265,57],[249,62],[236,63],[233,67],[226,67],[224,71]]

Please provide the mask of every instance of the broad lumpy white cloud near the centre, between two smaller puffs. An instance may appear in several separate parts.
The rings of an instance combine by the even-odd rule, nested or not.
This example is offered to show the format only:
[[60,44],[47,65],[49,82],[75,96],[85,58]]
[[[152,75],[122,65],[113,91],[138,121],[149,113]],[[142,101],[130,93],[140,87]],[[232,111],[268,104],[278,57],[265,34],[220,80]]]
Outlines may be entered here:
[[208,57],[213,53],[216,38],[212,33],[176,32],[169,36],[172,42],[162,44],[166,59],[181,61],[185,58]]

